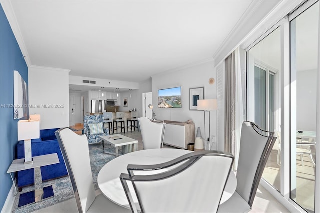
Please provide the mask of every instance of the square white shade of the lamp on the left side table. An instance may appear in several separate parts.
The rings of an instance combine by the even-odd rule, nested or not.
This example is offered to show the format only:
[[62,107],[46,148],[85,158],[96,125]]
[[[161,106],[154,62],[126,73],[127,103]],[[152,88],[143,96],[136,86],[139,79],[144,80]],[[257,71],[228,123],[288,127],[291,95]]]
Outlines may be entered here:
[[40,121],[19,120],[18,140],[30,140],[40,138]]

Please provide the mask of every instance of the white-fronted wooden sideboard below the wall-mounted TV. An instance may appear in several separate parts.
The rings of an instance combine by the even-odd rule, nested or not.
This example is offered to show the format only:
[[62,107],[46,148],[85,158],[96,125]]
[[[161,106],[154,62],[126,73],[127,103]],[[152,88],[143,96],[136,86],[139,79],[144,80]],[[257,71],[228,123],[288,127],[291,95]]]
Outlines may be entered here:
[[186,149],[188,143],[194,143],[195,130],[194,123],[177,121],[164,121],[165,131],[163,143],[177,148]]

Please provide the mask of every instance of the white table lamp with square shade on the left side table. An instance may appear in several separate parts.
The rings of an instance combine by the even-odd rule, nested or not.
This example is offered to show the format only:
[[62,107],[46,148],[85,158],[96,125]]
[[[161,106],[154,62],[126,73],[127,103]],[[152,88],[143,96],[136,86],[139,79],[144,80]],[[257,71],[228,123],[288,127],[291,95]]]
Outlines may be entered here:
[[24,140],[24,163],[32,163],[31,139],[40,137],[40,121],[19,120],[18,140]]

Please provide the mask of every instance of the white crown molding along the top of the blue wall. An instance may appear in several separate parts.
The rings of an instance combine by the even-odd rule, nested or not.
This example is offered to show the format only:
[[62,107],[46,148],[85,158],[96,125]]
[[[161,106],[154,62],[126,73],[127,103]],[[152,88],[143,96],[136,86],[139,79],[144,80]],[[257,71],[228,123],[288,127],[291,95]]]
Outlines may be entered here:
[[18,43],[18,45],[20,47],[20,50],[21,50],[21,52],[23,54],[24,60],[26,62],[26,65],[28,67],[30,67],[31,66],[31,61],[30,61],[29,53],[28,53],[28,51],[26,49],[25,42],[23,40],[19,24],[18,24],[18,22],[16,20],[16,16],[15,16],[12,4],[11,4],[11,0],[0,0],[0,3],[1,3],[3,11],[4,11],[5,15],[6,15],[6,18],[9,21],[9,24],[11,26],[11,29],[12,29],[13,34],[15,36],[15,39],[16,39],[16,41],[17,41],[17,43]]

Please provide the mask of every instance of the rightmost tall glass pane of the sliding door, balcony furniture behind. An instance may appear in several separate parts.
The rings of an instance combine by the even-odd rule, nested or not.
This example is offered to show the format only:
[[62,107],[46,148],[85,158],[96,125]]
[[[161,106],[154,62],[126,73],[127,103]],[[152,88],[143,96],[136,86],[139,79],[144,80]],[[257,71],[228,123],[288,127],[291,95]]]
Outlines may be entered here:
[[291,193],[314,212],[319,3],[290,20]]

